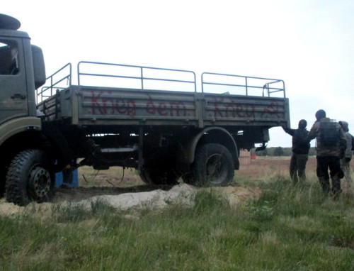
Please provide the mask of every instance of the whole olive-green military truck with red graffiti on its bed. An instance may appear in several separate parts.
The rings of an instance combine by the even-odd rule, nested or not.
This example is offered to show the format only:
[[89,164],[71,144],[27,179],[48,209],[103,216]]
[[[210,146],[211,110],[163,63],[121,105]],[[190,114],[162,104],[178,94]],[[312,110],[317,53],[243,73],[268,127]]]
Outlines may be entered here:
[[20,26],[0,16],[0,192],[15,204],[50,200],[55,172],[82,165],[223,186],[239,150],[290,126],[280,79],[87,61],[46,77]]

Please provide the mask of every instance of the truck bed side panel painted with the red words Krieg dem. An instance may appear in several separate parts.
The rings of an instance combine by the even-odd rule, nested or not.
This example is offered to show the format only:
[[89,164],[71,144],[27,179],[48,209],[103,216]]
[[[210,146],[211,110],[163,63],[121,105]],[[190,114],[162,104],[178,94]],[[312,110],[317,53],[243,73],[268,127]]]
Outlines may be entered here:
[[192,92],[80,87],[78,121],[89,125],[183,125],[197,123]]

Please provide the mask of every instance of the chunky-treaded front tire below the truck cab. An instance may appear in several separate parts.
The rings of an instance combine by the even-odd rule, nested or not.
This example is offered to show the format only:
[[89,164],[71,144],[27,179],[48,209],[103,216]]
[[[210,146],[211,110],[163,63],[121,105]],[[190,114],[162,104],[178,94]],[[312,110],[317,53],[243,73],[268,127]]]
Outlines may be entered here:
[[16,155],[6,176],[6,199],[25,206],[30,201],[51,199],[55,178],[51,159],[42,150],[23,150]]

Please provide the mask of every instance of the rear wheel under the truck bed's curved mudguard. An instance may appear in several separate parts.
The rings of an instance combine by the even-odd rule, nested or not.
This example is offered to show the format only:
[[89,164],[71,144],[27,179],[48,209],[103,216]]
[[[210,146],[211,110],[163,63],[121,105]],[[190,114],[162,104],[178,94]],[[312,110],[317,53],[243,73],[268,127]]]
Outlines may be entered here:
[[190,182],[203,187],[221,187],[234,178],[234,160],[224,145],[208,143],[195,152]]

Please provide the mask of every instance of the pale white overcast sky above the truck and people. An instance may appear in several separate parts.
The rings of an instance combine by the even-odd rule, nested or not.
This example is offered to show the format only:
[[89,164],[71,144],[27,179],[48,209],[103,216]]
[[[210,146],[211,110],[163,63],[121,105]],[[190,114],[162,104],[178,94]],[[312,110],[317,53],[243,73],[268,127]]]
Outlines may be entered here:
[[[292,128],[324,109],[354,132],[353,0],[17,0],[0,12],[42,48],[48,75],[88,60],[283,79]],[[268,146],[291,137],[272,128]]]

